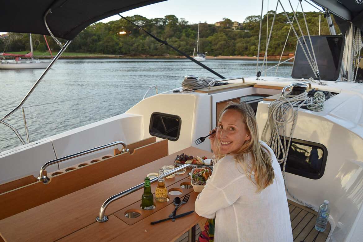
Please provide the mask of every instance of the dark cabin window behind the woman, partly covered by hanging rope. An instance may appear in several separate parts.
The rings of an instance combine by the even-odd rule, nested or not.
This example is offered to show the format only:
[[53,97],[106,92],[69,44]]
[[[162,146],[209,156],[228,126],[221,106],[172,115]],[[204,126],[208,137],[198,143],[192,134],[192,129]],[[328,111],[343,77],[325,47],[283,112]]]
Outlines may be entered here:
[[[281,141],[283,138],[281,137]],[[286,138],[286,145],[288,138]],[[324,145],[306,140],[292,139],[287,155],[285,172],[310,179],[319,179],[325,171],[327,149]],[[282,158],[280,155],[279,159]],[[283,163],[280,164],[281,171]]]

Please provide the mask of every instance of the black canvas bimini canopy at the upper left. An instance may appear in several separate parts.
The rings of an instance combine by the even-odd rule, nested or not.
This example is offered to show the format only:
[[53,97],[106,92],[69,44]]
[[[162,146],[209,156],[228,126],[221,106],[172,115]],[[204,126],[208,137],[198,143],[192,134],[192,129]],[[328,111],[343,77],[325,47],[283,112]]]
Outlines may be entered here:
[[1,1],[0,32],[49,35],[73,40],[87,26],[117,13],[165,0],[30,0]]

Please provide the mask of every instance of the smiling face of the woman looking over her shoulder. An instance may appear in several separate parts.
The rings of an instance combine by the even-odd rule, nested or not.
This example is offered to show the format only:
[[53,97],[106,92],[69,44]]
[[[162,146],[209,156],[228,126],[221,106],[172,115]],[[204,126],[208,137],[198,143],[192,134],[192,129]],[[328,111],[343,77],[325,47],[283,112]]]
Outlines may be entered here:
[[240,111],[227,109],[222,113],[218,122],[217,139],[222,154],[235,154],[250,139]]

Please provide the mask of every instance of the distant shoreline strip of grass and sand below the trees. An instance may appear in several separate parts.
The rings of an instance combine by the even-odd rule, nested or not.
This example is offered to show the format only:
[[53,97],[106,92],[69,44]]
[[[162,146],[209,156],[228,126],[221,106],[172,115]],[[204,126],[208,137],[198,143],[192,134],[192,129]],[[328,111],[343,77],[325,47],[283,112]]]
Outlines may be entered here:
[[[281,60],[287,60],[293,56],[282,56]],[[49,57],[36,57],[40,59],[48,59]],[[60,59],[186,59],[185,56],[125,56],[125,55],[106,55],[106,54],[86,54],[77,56],[60,56]],[[259,60],[263,60],[264,57],[260,56]],[[255,56],[207,56],[206,60],[257,60]],[[280,56],[268,56],[267,60],[280,60]],[[293,61],[290,60],[290,61]]]

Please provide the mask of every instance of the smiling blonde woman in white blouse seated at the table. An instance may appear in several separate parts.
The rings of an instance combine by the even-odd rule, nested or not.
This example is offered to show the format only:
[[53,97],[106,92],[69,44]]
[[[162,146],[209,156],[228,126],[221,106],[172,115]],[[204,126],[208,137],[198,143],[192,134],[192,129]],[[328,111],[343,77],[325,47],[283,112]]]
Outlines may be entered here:
[[215,218],[214,241],[293,241],[280,165],[258,140],[252,108],[229,102],[215,129],[213,174],[195,201],[197,214]]

